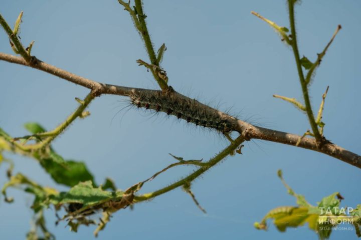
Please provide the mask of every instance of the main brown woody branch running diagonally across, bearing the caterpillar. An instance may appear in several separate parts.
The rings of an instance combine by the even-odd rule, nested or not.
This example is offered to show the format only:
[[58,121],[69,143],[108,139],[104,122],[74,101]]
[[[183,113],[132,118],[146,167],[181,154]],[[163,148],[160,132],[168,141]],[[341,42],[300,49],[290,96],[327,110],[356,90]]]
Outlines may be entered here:
[[[101,94],[114,94],[114,95],[123,95],[123,96],[129,96],[133,90],[141,91],[141,92],[154,92],[158,90],[152,90],[152,89],[143,89],[143,88],[134,88],[134,87],[126,87],[126,86],[117,86],[117,85],[111,85],[111,84],[105,84],[100,83],[97,81],[90,80],[88,78],[78,76],[76,74],[73,74],[71,72],[68,72],[66,70],[63,70],[61,68],[58,68],[56,66],[50,65],[48,63],[45,63],[40,60],[36,60],[35,63],[27,63],[22,57],[13,56],[6,53],[0,52],[0,60],[5,60],[12,63],[17,63],[25,66],[30,66],[45,72],[48,72],[50,74],[59,76],[63,79],[66,79],[68,81],[71,81],[75,84],[87,87],[91,89],[94,94],[97,96]],[[173,92],[176,97],[183,98],[183,99],[189,99],[197,104],[199,104],[200,107],[203,107],[204,109],[214,109],[208,105],[205,105],[197,100],[191,99],[185,95],[182,95],[178,92]],[[351,165],[357,166],[361,168],[361,156],[357,155],[356,153],[353,153],[351,151],[348,151],[336,144],[333,144],[332,142],[324,142],[323,144],[319,144],[316,139],[308,138],[308,137],[301,137],[296,134],[291,134],[287,132],[277,131],[273,129],[268,129],[264,127],[254,126],[248,122],[239,120],[229,114],[226,114],[222,111],[218,111],[218,114],[226,121],[231,122],[233,125],[236,125],[236,131],[238,131],[240,134],[242,134],[247,140],[250,140],[252,138],[255,139],[262,139],[267,141],[273,141],[273,142],[279,142],[283,144],[293,145],[293,146],[299,146],[306,149],[318,151],[327,155],[330,155],[332,157],[335,157],[337,159],[340,159],[344,162],[347,162]],[[301,140],[300,140],[301,138]],[[296,145],[298,143],[298,145]]]

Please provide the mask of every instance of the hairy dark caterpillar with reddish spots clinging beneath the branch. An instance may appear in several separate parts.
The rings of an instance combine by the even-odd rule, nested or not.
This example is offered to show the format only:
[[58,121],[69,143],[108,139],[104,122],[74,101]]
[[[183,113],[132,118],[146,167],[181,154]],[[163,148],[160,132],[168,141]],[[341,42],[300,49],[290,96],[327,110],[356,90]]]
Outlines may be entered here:
[[184,119],[198,126],[213,128],[222,133],[235,130],[234,123],[222,117],[222,112],[204,105],[196,99],[179,97],[171,86],[169,89],[167,92],[143,92],[132,89],[129,93],[130,103],[138,108],[144,107],[156,112],[165,112],[178,119]]

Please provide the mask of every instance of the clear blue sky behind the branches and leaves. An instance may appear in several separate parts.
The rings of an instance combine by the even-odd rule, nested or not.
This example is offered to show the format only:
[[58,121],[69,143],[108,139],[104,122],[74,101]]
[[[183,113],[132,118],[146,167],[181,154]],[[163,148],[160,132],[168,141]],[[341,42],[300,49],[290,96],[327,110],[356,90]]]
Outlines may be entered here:
[[[144,4],[149,30],[158,48],[167,46],[162,66],[174,89],[204,102],[221,102],[242,119],[274,129],[302,134],[309,129],[306,116],[272,94],[301,99],[291,49],[251,10],[288,26],[285,0],[167,1]],[[146,60],[145,49],[130,17],[116,0],[2,0],[0,11],[15,22],[24,10],[21,37],[35,40],[33,54],[76,74],[112,84],[156,88],[149,72],[135,62]],[[342,30],[329,48],[311,85],[312,105],[330,86],[324,110],[325,136],[361,153],[361,1],[302,1],[296,19],[301,55],[314,60],[337,24]],[[0,51],[11,53],[8,36],[0,31]],[[38,121],[51,129],[77,105],[87,89],[25,66],[0,62],[0,126],[14,136],[26,134],[23,124]],[[118,110],[120,96],[102,96],[89,107],[92,115],[76,120],[53,144],[66,158],[83,160],[102,182],[107,176],[119,188],[143,180],[173,162],[168,152],[185,159],[209,159],[228,143],[217,134],[162,116],[149,119],[144,112]],[[114,117],[114,118],[113,118]],[[113,119],[113,120],[112,120]],[[57,186],[38,162],[19,156],[15,172]],[[265,141],[251,141],[243,155],[229,157],[193,185],[208,214],[189,195],[175,189],[150,202],[114,214],[99,239],[316,239],[303,226],[278,232],[256,230],[271,208],[294,205],[277,178],[282,168],[286,181],[316,204],[339,191],[342,205],[361,203],[360,169],[310,150]],[[6,181],[5,166],[0,183]],[[173,182],[192,168],[167,171],[147,183],[142,192]],[[63,186],[59,189],[66,190]],[[0,203],[2,239],[23,239],[30,228],[32,196],[17,189],[13,204]],[[6,216],[6,217],[4,217]],[[54,225],[54,210],[46,213],[58,239],[92,239],[94,227],[78,233]],[[355,239],[354,231],[334,232],[331,239]]]

